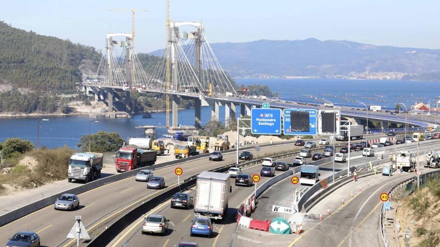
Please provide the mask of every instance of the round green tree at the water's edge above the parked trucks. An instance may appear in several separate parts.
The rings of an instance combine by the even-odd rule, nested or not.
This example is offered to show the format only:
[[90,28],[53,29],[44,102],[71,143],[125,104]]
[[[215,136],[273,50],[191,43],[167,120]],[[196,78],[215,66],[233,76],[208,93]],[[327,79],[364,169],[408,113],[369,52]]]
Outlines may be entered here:
[[[122,147],[124,140],[116,132],[99,131],[90,136],[90,151],[105,153],[114,152]],[[88,151],[88,135],[84,135],[77,145],[83,152]]]

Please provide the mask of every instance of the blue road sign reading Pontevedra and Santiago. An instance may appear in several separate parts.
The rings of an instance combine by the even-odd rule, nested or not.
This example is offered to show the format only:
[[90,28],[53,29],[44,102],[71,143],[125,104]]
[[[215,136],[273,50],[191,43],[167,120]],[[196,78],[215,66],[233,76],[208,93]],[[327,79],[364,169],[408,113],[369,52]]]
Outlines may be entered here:
[[281,109],[252,108],[250,119],[250,133],[252,134],[281,134]]

